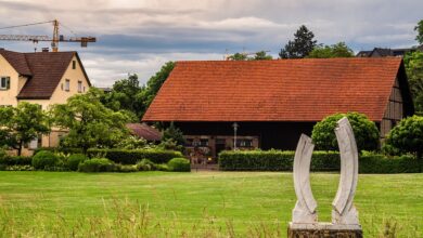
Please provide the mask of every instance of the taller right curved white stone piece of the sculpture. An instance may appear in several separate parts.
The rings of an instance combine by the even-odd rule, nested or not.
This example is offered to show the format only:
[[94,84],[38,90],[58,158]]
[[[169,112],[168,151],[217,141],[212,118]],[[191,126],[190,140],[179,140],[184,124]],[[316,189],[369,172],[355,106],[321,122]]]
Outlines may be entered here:
[[352,204],[358,182],[358,150],[352,128],[346,117],[335,129],[341,154],[341,180],[332,202],[332,223],[358,225],[358,212]]

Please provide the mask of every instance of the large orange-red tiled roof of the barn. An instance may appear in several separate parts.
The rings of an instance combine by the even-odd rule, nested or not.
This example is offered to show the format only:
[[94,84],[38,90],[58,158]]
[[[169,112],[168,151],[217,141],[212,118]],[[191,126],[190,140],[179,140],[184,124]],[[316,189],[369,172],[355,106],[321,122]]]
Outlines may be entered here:
[[381,121],[400,66],[399,57],[178,62],[142,120],[320,121],[359,111]]

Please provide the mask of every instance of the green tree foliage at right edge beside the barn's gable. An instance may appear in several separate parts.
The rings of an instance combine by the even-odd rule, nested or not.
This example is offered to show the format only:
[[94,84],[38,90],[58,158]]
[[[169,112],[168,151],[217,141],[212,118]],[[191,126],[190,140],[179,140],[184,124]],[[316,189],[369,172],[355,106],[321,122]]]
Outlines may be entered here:
[[403,57],[415,111],[423,115],[423,52],[415,51]]

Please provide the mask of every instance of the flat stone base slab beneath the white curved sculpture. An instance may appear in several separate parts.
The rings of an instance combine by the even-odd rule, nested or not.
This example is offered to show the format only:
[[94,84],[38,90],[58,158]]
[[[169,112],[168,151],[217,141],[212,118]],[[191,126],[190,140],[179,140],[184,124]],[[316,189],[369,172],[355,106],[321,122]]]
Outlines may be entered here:
[[338,225],[332,223],[290,223],[289,238],[362,238],[360,225]]

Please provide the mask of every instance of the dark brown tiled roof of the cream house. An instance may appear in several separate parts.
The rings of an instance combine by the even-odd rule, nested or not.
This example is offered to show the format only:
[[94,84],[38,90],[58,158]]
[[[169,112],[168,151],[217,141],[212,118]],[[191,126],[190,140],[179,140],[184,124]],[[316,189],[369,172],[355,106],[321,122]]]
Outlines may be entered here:
[[49,100],[74,56],[77,57],[90,84],[77,52],[18,53],[0,50],[0,54],[20,75],[28,76],[17,95],[20,100]]

